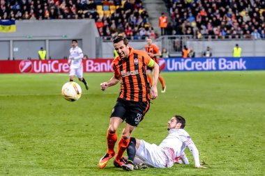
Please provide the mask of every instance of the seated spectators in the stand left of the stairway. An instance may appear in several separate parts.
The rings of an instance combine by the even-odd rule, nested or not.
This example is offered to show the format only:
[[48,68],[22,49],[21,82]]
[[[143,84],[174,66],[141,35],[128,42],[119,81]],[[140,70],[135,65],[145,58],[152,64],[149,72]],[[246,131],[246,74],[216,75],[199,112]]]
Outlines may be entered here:
[[0,19],[95,19],[101,36],[156,38],[141,0],[1,0]]

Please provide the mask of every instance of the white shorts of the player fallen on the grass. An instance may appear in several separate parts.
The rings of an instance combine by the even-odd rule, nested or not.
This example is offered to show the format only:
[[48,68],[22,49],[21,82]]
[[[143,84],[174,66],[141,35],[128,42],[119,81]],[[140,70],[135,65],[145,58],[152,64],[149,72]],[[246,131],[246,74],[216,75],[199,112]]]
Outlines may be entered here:
[[147,165],[154,168],[166,168],[167,166],[165,154],[156,144],[146,143],[146,141],[141,140],[136,155]]

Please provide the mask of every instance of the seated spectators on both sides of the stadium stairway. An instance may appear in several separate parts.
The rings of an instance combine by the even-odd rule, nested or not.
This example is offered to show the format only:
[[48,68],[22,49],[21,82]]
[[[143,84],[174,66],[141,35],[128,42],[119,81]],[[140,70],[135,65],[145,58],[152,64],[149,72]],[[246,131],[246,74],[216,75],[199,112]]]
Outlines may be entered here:
[[[265,38],[264,0],[164,0],[172,20],[166,35]],[[95,19],[106,40],[156,38],[142,0],[0,0],[0,19]]]

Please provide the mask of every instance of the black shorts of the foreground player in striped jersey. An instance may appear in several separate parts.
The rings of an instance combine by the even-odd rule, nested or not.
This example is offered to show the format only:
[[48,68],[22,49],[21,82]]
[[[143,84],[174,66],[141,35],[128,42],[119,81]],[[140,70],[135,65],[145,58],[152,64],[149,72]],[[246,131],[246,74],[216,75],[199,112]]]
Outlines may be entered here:
[[129,125],[137,127],[139,122],[143,120],[145,113],[149,110],[149,105],[150,102],[132,102],[118,98],[110,117],[121,118]]

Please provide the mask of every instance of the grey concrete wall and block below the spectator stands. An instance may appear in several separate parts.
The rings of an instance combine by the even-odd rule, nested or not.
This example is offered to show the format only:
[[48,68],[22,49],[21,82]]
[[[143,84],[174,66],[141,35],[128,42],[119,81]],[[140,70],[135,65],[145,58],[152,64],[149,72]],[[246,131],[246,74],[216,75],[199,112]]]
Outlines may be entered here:
[[[0,33],[0,60],[38,59],[38,50],[44,47],[47,58],[67,58],[71,40],[77,39],[89,58],[113,58],[111,40],[100,37],[93,19],[56,19],[43,21],[17,21],[16,33]],[[154,41],[166,48],[171,57],[181,57],[183,45],[192,47],[201,57],[206,47],[213,57],[232,56],[234,46],[242,48],[241,56],[265,56],[265,40],[252,39],[194,39],[191,35],[163,35]],[[145,40],[130,40],[135,49],[144,49]]]

